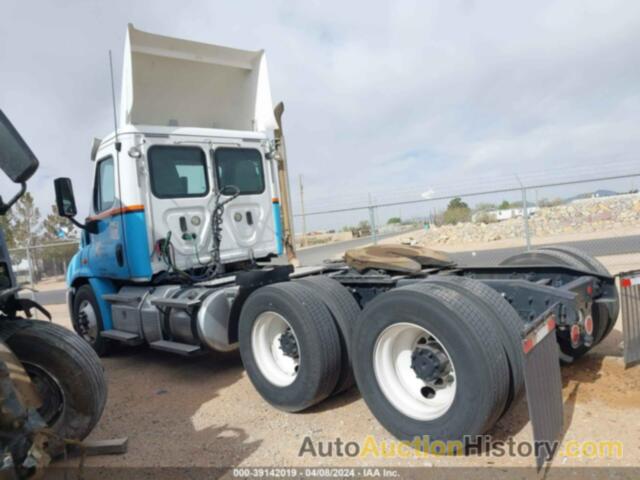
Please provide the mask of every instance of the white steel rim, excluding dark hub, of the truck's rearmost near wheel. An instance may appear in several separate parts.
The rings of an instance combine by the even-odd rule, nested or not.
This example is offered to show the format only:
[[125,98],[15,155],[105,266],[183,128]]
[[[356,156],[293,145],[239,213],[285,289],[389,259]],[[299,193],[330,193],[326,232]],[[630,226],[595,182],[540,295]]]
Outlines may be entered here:
[[[411,354],[421,339],[437,346],[449,360],[450,383],[434,390],[432,398],[423,394],[429,384],[411,368]],[[387,400],[402,414],[429,421],[443,416],[455,400],[456,374],[444,345],[428,330],[413,323],[396,323],[378,336],[373,350],[373,370],[378,386]]]

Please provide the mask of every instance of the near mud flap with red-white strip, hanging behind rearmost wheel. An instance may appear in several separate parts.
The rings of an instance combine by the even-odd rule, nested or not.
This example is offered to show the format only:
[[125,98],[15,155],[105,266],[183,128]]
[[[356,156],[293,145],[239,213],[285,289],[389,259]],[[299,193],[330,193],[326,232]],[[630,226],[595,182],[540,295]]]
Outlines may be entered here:
[[563,404],[555,305],[523,332],[524,384],[533,427],[536,466],[542,468],[556,451],[562,433]]

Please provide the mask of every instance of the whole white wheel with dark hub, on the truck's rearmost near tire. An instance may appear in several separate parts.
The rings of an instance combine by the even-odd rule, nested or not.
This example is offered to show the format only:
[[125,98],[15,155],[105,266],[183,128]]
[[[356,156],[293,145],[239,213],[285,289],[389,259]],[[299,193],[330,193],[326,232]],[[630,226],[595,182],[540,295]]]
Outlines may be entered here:
[[396,323],[378,336],[373,370],[387,400],[416,420],[435,420],[455,399],[453,362],[440,341],[412,323]]

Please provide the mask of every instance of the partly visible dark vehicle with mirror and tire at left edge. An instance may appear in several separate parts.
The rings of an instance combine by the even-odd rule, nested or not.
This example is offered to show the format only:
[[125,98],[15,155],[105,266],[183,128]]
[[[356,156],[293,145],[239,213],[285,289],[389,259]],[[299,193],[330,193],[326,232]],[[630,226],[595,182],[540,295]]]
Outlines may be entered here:
[[[38,159],[0,110],[0,169],[26,192]],[[17,283],[0,229],[0,478],[40,478],[52,458],[98,423],[107,400],[100,359]],[[49,321],[32,318],[34,311]]]

